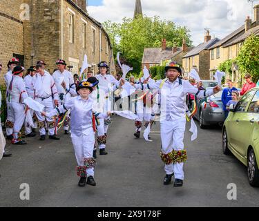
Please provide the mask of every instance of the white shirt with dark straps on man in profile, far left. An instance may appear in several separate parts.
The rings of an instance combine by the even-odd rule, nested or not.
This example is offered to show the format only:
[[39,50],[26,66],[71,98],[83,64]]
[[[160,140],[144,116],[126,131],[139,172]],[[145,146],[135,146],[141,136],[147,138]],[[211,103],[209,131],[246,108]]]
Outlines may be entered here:
[[22,77],[14,76],[12,82],[10,82],[10,87],[11,90],[9,90],[9,93],[11,102],[22,103],[23,99],[28,97]]

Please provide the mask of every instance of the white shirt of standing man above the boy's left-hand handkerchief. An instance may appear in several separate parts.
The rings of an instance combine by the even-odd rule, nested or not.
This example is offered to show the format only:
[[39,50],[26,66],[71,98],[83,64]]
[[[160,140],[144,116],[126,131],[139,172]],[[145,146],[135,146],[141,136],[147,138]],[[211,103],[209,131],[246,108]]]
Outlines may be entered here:
[[58,99],[57,88],[53,77],[44,72],[44,75],[37,73],[32,77],[32,86],[35,90],[35,97],[48,98],[53,95]]

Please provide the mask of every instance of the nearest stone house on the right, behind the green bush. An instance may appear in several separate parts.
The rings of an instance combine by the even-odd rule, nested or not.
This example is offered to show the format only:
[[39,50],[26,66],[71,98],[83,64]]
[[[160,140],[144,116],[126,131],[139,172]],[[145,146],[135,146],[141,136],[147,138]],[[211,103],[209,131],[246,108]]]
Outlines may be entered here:
[[[210,71],[211,75],[218,69],[220,64],[229,59],[236,59],[245,39],[251,35],[259,35],[259,4],[253,7],[254,21],[247,17],[244,25],[231,32],[217,44],[213,45],[210,50]],[[226,79],[232,79],[235,86],[240,86],[242,81],[238,65],[233,63],[231,73],[226,73]]]

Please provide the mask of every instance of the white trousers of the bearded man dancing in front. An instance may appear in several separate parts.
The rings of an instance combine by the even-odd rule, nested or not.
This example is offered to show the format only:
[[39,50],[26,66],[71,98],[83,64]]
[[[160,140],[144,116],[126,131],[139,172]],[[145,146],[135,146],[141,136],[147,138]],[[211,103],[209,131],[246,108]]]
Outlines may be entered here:
[[[184,150],[184,132],[186,119],[179,119],[177,121],[162,121],[161,140],[162,152],[165,154],[174,151]],[[184,163],[175,163],[164,166],[166,174],[175,173],[175,179],[184,180]]]

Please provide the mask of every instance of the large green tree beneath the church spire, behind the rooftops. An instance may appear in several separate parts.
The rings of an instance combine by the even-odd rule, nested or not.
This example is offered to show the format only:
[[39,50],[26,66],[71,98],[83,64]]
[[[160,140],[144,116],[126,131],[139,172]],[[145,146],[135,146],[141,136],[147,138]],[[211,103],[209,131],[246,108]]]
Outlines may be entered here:
[[191,36],[186,27],[176,26],[173,21],[162,21],[160,17],[126,18],[122,23],[104,22],[104,28],[111,37],[114,55],[118,51],[133,66],[133,71],[140,73],[144,48],[161,47],[162,39],[167,46],[181,46],[182,39],[191,46]]

